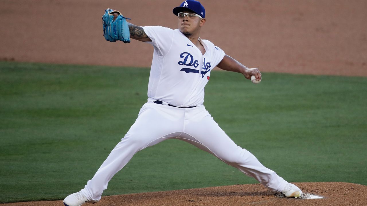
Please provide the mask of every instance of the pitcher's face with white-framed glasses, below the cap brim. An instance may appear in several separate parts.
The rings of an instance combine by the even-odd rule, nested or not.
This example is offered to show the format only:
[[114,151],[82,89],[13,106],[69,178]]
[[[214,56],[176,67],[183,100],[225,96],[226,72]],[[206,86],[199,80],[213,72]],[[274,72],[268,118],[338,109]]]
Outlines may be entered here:
[[[189,10],[183,10],[184,13],[190,13]],[[204,25],[205,19],[201,19],[199,16],[188,17],[187,15],[183,18],[178,18],[178,29],[181,33],[186,36],[192,36],[200,32],[200,27]]]

